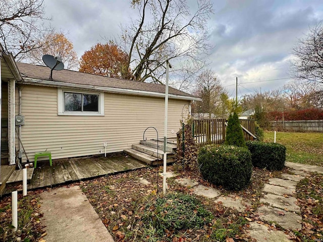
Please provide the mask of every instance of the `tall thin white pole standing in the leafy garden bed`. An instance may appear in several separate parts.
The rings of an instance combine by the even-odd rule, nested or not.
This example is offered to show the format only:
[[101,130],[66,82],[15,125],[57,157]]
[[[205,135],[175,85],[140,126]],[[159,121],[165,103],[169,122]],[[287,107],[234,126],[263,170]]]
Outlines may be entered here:
[[[163,172],[163,193],[166,194],[166,166],[167,166],[167,111],[168,111],[168,79],[169,79],[169,62],[166,61],[166,87],[165,87],[165,120],[164,120],[164,172]],[[157,188],[158,189],[158,188]]]

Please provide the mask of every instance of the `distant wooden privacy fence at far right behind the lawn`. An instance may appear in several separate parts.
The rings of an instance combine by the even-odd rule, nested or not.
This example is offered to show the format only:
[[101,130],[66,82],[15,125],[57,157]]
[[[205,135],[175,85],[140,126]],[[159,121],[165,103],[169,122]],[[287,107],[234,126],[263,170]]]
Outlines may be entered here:
[[273,121],[272,129],[293,132],[323,132],[323,120]]

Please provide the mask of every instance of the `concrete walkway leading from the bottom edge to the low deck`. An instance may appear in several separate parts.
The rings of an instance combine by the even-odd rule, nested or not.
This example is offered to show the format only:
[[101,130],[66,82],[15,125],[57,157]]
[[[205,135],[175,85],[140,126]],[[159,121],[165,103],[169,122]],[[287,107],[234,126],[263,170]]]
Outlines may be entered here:
[[41,194],[46,242],[114,242],[79,186]]

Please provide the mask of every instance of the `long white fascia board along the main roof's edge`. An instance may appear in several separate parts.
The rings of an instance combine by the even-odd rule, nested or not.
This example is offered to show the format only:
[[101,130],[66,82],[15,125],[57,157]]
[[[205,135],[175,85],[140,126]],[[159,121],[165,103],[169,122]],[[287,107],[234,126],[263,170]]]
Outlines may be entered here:
[[[120,94],[130,94],[130,95],[140,95],[140,96],[150,96],[150,97],[165,97],[165,93],[159,93],[159,92],[132,90],[132,89],[115,88],[115,87],[99,87],[99,86],[93,86],[93,85],[56,82],[56,81],[40,80],[40,79],[33,79],[33,78],[24,78],[23,82],[29,83],[29,84],[35,84],[35,85],[80,88],[80,89],[89,89],[89,90],[120,93]],[[169,94],[169,98],[202,101],[202,99],[198,97],[181,96],[181,95],[175,95],[175,94]]]

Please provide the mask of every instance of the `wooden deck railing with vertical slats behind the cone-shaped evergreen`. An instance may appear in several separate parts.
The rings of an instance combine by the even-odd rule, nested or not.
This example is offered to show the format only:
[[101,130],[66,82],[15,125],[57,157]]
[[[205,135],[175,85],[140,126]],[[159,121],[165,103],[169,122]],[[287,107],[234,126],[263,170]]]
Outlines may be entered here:
[[[245,140],[254,140],[255,125],[254,119],[239,119],[243,126]],[[200,146],[206,144],[222,144],[226,138],[226,119],[225,118],[203,118],[193,119],[192,134]],[[177,145],[183,139],[182,129],[177,132]]]

